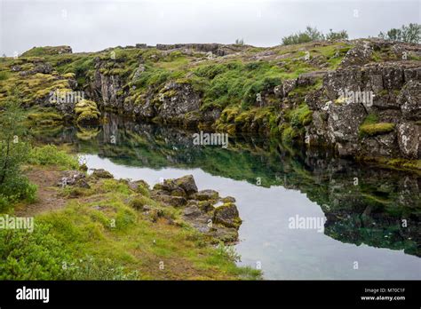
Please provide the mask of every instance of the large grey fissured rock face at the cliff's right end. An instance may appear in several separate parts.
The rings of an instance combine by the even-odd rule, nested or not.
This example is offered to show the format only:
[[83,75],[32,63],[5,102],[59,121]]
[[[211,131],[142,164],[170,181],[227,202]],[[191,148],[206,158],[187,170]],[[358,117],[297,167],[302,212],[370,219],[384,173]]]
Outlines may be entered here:
[[[419,159],[418,72],[417,62],[397,61],[341,67],[325,75],[323,91],[314,91],[306,99],[314,113],[306,128],[307,139],[331,145],[343,156]],[[344,102],[340,95],[347,91],[367,94],[371,100]],[[393,124],[395,129],[361,135],[361,124],[369,115],[376,115],[377,123]]]

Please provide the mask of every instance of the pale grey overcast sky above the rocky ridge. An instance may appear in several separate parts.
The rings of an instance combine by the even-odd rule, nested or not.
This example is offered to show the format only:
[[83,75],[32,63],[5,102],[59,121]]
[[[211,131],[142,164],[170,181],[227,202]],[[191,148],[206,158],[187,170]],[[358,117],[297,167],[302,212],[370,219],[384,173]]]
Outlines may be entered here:
[[420,0],[0,0],[0,53],[146,43],[272,46],[306,25],[351,38],[421,21]]

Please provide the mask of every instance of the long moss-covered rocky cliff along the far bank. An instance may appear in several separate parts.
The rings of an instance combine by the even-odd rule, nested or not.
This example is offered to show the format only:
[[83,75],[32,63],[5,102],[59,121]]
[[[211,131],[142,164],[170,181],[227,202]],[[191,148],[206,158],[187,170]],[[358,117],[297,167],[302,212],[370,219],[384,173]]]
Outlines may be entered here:
[[[100,110],[139,121],[253,132],[287,144],[330,147],[340,156],[420,168],[419,44],[139,44],[4,59],[1,69],[7,83],[0,100],[18,85],[29,105],[63,112],[63,104],[49,99],[51,91],[83,91]],[[65,108],[68,114],[74,109]]]

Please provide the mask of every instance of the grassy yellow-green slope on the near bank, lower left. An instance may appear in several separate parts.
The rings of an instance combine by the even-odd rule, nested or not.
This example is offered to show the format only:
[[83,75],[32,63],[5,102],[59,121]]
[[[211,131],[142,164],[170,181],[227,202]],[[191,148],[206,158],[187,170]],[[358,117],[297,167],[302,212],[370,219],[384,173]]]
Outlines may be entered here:
[[[16,271],[12,277],[4,271],[4,279],[234,280],[260,276],[257,270],[237,267],[235,255],[227,247],[212,246],[210,239],[182,221],[179,210],[150,199],[145,188],[133,191],[126,181],[116,179],[90,178],[89,189],[60,188],[55,186],[57,180],[53,184],[42,183],[40,179],[51,178],[58,170],[73,170],[78,165],[72,156],[55,147],[36,149],[29,163],[27,170],[36,175],[31,180],[36,182],[38,190],[52,189],[57,194],[38,201],[36,208],[42,209],[43,203],[53,203],[55,198],[66,201],[64,208],[36,211],[35,220],[39,229],[49,226],[48,237],[60,242],[55,248],[63,252],[58,258],[60,263],[73,266],[58,271],[59,274],[49,273],[48,269],[44,274],[26,273],[25,267],[36,265],[43,269],[45,265],[40,257],[34,262],[28,256],[21,256],[21,260],[28,259],[22,265],[23,270]],[[151,210],[148,213],[136,210],[131,206],[133,198],[141,199]],[[16,206],[17,213],[33,215],[27,213],[28,206],[21,202]],[[43,242],[38,245],[40,251],[46,250]],[[4,254],[2,245],[0,254]]]

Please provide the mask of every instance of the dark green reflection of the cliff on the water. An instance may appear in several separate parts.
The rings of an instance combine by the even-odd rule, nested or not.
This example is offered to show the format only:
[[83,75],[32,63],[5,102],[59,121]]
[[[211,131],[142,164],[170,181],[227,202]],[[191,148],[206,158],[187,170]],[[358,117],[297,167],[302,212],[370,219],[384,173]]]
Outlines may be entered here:
[[154,170],[199,168],[253,186],[258,178],[262,187],[297,190],[321,207],[329,237],[421,256],[421,178],[416,174],[358,165],[322,150],[282,147],[250,136],[230,137],[228,149],[195,146],[195,132],[114,115],[89,132],[70,127],[43,134],[42,139],[73,144],[79,153],[107,157],[116,164]]

